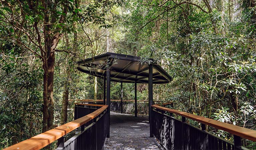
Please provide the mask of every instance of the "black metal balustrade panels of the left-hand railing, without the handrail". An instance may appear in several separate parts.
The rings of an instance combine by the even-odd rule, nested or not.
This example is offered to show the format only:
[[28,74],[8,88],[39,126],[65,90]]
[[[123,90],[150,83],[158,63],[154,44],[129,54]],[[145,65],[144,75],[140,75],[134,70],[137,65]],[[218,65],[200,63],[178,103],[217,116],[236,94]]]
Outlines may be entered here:
[[[96,111],[100,106],[75,104],[74,119],[86,116]],[[96,118],[82,125],[76,134],[65,143],[58,140],[56,150],[101,150],[107,135],[107,110],[101,112]]]

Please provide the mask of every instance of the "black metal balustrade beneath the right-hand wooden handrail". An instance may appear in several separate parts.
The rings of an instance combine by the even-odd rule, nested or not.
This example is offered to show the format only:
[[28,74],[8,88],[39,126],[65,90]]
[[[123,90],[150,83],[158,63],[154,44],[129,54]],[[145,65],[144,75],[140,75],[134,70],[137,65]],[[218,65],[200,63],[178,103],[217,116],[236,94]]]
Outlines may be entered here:
[[234,135],[235,143],[232,143],[207,132],[205,130],[205,124],[201,123],[200,129],[187,123],[184,116],[182,116],[182,120],[178,120],[172,117],[172,113],[169,111],[156,108],[156,105],[153,105],[152,107],[154,108],[151,110],[153,135],[167,150],[246,149],[241,146],[241,137],[239,136]]

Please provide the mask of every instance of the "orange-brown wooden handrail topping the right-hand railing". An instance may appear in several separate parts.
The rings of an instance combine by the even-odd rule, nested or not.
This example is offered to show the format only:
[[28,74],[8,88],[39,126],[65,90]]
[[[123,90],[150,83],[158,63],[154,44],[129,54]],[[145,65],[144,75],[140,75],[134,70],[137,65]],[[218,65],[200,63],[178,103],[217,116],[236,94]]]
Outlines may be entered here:
[[157,108],[157,109],[161,109],[170,113],[174,113],[192,120],[195,120],[197,122],[209,125],[211,127],[214,127],[216,129],[219,130],[223,130],[223,131],[227,131],[231,134],[249,139],[251,141],[256,141],[256,131],[255,130],[251,130],[251,129],[247,129],[247,128],[243,128],[240,126],[235,126],[229,123],[225,123],[225,122],[220,122],[217,120],[213,120],[213,119],[209,119],[209,118],[205,118],[202,116],[197,116],[194,114],[190,114],[190,113],[186,113],[183,111],[179,111],[179,110],[175,110],[175,109],[170,109],[170,108],[166,108],[166,107],[161,107],[158,105],[152,105],[153,108]]

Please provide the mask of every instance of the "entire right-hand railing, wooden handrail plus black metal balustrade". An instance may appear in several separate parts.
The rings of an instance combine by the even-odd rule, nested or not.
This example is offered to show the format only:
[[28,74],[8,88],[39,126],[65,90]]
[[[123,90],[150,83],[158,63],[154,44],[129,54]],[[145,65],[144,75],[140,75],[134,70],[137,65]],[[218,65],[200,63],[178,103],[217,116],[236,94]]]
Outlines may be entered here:
[[[246,149],[241,145],[241,137],[256,141],[256,131],[197,116],[194,114],[152,105],[152,132],[161,145],[168,150],[236,150]],[[172,117],[182,116],[182,120]],[[186,118],[201,123],[201,129],[186,122]],[[227,131],[234,135],[234,143],[206,131],[206,125]]]

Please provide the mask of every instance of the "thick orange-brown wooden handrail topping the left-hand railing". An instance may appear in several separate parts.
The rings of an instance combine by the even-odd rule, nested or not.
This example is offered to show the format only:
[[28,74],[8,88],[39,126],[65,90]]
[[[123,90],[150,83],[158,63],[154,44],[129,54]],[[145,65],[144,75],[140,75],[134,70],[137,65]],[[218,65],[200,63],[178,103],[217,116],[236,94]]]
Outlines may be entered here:
[[[87,104],[90,105],[90,104]],[[96,111],[83,116],[79,119],[76,119],[74,121],[71,121],[69,123],[66,123],[64,125],[61,125],[59,127],[56,127],[54,129],[51,129],[49,131],[46,131],[44,133],[41,133],[39,135],[36,135],[30,139],[27,139],[25,141],[19,142],[15,145],[12,145],[4,150],[39,150],[55,140],[58,140],[62,136],[68,134],[69,132],[75,130],[76,128],[80,127],[81,125],[89,122],[93,118],[97,117],[100,113],[102,113],[104,110],[108,108],[108,105],[100,105],[101,108],[97,109]]]

